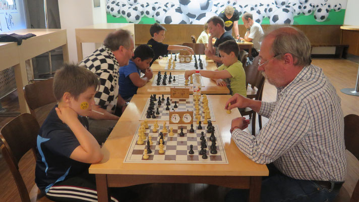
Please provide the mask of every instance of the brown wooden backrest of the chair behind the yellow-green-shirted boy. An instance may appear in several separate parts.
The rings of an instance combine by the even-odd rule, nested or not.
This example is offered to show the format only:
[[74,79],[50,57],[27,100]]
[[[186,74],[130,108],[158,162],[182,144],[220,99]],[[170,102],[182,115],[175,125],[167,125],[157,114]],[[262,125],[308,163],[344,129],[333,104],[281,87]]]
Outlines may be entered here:
[[262,71],[258,71],[259,57],[254,58],[253,63],[245,68],[246,85],[251,84],[252,88],[257,87],[255,99],[261,100],[265,77]]

